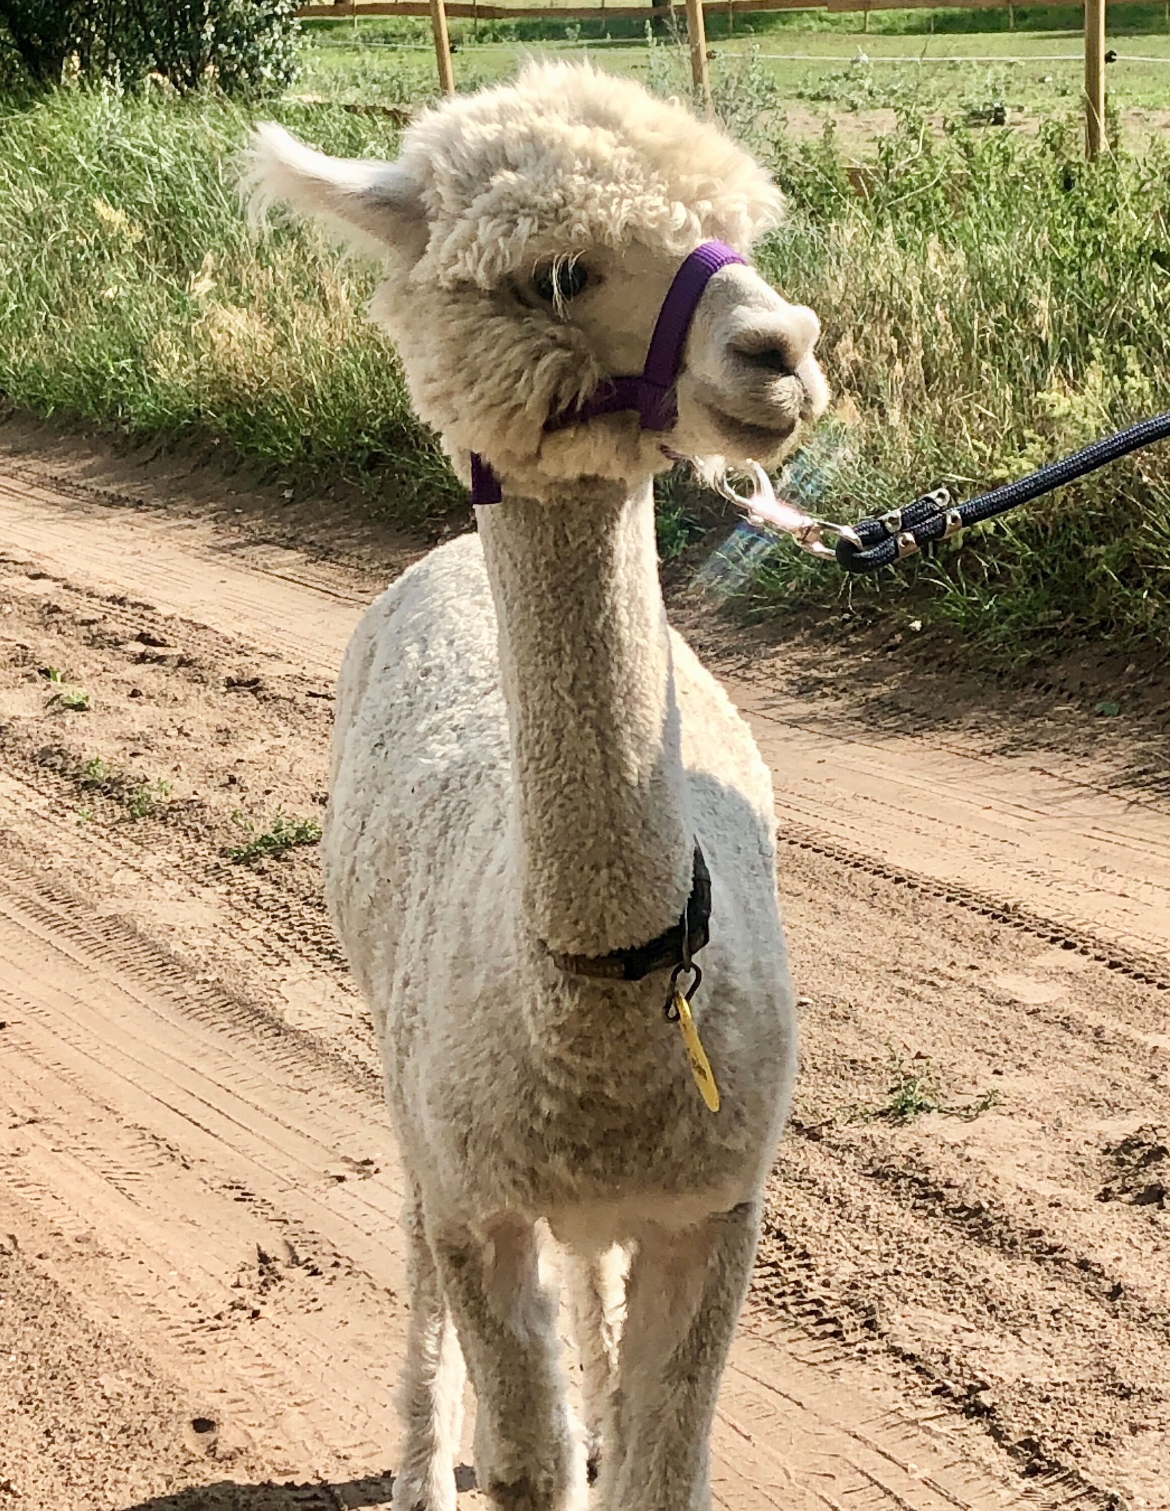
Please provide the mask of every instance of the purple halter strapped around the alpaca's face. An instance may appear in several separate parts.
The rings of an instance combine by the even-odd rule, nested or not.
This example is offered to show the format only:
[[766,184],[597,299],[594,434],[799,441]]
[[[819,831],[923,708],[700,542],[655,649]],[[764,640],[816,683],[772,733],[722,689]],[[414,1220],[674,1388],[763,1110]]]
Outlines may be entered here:
[[[696,246],[675,273],[675,281],[663,299],[642,372],[636,378],[610,378],[578,408],[563,409],[545,420],[545,431],[563,431],[569,425],[593,420],[599,414],[617,414],[622,409],[637,409],[643,431],[667,431],[678,419],[675,379],[699,299],[720,267],[743,261],[744,258],[723,242],[704,242]],[[471,502],[500,503],[501,499],[500,479],[479,452],[473,452]]]

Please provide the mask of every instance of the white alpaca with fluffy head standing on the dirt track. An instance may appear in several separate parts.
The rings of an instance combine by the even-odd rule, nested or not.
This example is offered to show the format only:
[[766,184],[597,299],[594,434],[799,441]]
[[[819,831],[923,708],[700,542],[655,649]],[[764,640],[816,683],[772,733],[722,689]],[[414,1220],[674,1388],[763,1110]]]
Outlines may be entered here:
[[[254,183],[377,242],[374,313],[418,413],[504,496],[373,604],[337,704],[328,896],[411,1183],[396,1505],[454,1506],[460,1354],[488,1497],[559,1511],[583,1488],[543,1222],[568,1256],[599,1505],[705,1511],[794,1021],[770,777],[667,629],[651,477],[664,444],[776,461],[824,406],[817,320],[722,267],[669,434],[631,413],[545,423],[640,372],[681,260],[710,237],[746,252],[779,196],[716,127],[571,66],[444,103],[394,163],[264,127]],[[696,842],[717,1112],[664,1015]],[[672,929],[667,969],[593,973]]]

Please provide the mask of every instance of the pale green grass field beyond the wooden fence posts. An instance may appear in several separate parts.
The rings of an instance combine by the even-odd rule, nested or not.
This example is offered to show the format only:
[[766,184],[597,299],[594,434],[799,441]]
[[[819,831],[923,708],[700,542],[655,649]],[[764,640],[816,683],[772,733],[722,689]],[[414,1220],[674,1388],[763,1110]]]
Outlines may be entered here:
[[[457,26],[457,23],[456,23]],[[353,32],[335,24],[313,33],[297,91],[349,103],[403,104],[435,89],[429,32],[397,36],[362,23]],[[365,32],[368,30],[368,36]],[[569,41],[572,24],[547,27],[542,41],[471,41],[454,54],[460,89],[504,77],[533,54],[592,57],[614,73],[630,73],[663,88],[688,89],[679,50],[646,47],[646,38]],[[1150,134],[1170,133],[1170,35],[1110,38],[1117,60],[1108,68],[1110,125],[1116,141],[1140,148]],[[731,80],[750,70],[765,82],[774,109],[794,134],[814,134],[832,121],[842,151],[853,160],[873,156],[874,141],[892,115],[922,112],[933,130],[962,121],[974,127],[1007,122],[1036,131],[1046,121],[1069,119],[1079,109],[1084,60],[1078,32],[986,33],[799,33],[791,30],[714,41],[711,70]]]

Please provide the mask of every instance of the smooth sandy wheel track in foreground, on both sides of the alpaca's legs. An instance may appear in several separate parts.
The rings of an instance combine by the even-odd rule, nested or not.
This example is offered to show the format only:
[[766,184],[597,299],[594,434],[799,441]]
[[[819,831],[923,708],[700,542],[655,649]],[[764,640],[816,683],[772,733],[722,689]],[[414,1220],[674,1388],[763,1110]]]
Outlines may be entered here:
[[[86,1248],[88,1302],[116,1325],[130,1301],[157,1357],[217,1399],[225,1452],[269,1455],[276,1475],[376,1466],[402,1354],[400,1177],[382,1153],[364,1177],[340,1171],[370,1170],[365,1151],[388,1142],[374,1089],[309,1035],[270,1018],[255,1032],[254,1009],[11,860],[0,953],[15,967],[0,993],[0,1188],[59,1234],[50,1274],[68,1286],[62,1244]],[[720,1435],[752,1454],[720,1443],[722,1505],[762,1503],[761,1481],[787,1481],[790,1506],[1024,1503],[904,1416],[913,1457],[879,1449],[873,1402],[802,1366],[799,1345],[785,1358],[761,1334],[743,1349],[759,1378],[734,1361]]]

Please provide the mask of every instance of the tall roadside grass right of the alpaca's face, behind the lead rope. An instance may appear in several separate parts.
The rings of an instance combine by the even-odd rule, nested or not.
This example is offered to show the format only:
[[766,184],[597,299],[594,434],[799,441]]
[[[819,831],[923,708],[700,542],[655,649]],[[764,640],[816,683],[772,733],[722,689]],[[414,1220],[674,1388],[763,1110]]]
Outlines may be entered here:
[[[761,263],[821,313],[826,366],[856,417],[797,459],[790,488],[811,505],[883,512],[936,482],[969,496],[1170,408],[1164,144],[1088,166],[1072,125],[936,138],[909,115],[868,198],[830,138],[787,144],[777,166],[796,216]],[[924,616],[1019,659],[1070,633],[1164,639],[1167,562],[1162,446],[891,582]],[[773,555],[747,597],[774,613],[821,585],[823,570]]]

